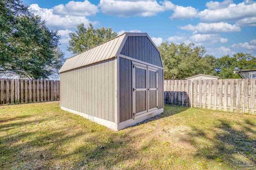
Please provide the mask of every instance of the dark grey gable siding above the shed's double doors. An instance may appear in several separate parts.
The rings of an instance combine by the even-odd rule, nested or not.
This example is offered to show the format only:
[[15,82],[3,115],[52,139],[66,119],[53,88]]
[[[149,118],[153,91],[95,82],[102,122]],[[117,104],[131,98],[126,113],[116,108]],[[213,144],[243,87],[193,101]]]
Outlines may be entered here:
[[127,37],[120,54],[163,67],[158,50],[147,36]]

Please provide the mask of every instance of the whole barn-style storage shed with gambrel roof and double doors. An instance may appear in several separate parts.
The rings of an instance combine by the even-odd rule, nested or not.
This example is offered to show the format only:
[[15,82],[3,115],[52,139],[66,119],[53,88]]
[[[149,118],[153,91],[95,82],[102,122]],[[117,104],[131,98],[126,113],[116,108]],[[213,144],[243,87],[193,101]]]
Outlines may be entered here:
[[60,107],[113,130],[163,112],[163,63],[147,33],[126,32],[60,69]]

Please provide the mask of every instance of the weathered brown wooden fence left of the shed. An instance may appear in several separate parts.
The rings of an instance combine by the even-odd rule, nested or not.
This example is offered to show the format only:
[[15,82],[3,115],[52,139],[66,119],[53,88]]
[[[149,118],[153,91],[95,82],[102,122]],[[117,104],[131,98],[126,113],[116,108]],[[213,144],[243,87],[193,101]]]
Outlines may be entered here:
[[59,90],[55,80],[0,79],[0,105],[59,100]]

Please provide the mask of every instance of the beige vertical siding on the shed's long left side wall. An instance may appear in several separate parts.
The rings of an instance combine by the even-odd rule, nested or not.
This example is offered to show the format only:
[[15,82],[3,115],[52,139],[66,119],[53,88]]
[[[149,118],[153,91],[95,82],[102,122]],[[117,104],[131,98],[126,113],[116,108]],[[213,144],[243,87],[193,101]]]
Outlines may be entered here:
[[115,122],[114,60],[60,74],[60,106]]

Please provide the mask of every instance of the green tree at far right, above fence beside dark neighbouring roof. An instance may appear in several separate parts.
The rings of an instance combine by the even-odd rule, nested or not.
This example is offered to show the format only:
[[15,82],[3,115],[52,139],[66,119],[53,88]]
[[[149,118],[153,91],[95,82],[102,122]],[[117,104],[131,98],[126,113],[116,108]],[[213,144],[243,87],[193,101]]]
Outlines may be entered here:
[[226,55],[217,58],[214,67],[218,70],[217,75],[221,79],[237,79],[240,77],[234,73],[234,70],[256,69],[256,57],[244,53],[236,53],[232,57]]

